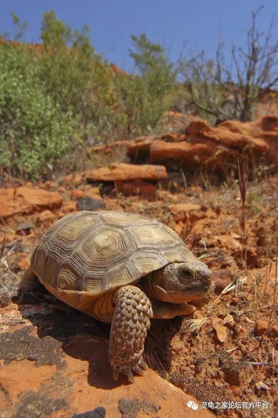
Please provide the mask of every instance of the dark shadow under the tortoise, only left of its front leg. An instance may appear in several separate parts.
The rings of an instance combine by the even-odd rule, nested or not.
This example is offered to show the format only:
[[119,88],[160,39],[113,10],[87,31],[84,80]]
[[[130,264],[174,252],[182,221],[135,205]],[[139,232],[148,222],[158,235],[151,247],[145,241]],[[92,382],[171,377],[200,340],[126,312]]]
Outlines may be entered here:
[[88,362],[90,386],[113,389],[122,384],[113,380],[109,363],[110,324],[71,308],[39,282],[32,289],[20,291],[13,301],[21,315],[36,327],[40,339],[50,336],[62,343],[61,349],[67,356]]

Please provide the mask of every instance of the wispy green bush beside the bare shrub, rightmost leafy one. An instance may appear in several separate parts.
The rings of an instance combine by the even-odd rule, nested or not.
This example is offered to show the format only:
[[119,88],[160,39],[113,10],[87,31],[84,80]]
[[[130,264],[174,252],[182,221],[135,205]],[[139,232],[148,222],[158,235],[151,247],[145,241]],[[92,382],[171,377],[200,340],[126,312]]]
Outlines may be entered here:
[[145,34],[131,35],[138,75],[118,74],[116,86],[126,115],[127,134],[144,134],[153,129],[169,108],[170,87],[175,79],[172,64],[159,44],[150,42]]

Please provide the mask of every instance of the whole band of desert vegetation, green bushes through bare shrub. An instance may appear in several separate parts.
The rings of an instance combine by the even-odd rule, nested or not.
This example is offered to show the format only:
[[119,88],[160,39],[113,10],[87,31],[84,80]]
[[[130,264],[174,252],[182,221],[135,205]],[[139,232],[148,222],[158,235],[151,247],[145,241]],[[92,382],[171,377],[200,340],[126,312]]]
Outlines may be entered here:
[[[0,166],[29,178],[67,165],[77,146],[162,133],[167,110],[215,123],[251,121],[260,97],[277,100],[278,44],[256,27],[246,50],[233,46],[231,66],[223,41],[215,59],[204,52],[169,61],[145,34],[131,35],[132,74],[115,69],[95,51],[89,28],[73,29],[53,11],[42,17],[41,44],[22,41],[27,22],[14,13],[14,33],[0,42]],[[13,40],[11,40],[11,38]],[[271,90],[272,89],[272,90]]]

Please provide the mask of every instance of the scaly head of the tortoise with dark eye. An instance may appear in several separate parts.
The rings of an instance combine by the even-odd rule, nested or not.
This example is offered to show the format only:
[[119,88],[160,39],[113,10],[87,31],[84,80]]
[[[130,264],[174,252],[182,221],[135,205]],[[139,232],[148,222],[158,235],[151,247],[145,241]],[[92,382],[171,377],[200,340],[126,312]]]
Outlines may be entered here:
[[211,280],[211,270],[201,261],[174,262],[153,272],[147,293],[163,302],[189,302],[206,296]]

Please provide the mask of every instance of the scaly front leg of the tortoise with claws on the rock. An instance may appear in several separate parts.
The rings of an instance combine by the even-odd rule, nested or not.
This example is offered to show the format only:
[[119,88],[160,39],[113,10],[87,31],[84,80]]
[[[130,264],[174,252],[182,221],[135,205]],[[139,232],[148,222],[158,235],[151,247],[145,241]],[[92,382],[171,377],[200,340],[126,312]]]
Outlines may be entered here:
[[114,294],[116,302],[110,332],[109,360],[113,377],[119,373],[128,375],[134,383],[132,372],[142,376],[147,370],[143,362],[144,343],[150,327],[152,308],[148,297],[135,286],[124,286]]

